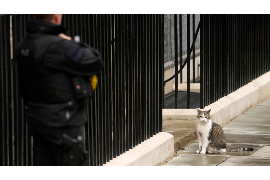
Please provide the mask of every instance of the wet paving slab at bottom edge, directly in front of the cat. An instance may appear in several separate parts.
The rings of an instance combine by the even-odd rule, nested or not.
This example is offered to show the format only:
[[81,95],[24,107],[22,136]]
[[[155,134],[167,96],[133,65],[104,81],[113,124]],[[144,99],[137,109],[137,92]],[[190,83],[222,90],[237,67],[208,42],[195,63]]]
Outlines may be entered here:
[[229,155],[179,154],[166,162],[164,166],[216,166]]

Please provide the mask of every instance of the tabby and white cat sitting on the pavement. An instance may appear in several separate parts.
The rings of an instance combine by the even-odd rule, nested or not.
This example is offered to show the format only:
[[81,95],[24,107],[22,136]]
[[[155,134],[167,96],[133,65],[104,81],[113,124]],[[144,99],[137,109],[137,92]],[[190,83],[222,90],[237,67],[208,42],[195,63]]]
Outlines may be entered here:
[[226,138],[222,127],[210,119],[210,110],[201,111],[197,108],[197,136],[199,150],[196,153],[225,153],[235,151],[253,151],[253,148],[226,148]]

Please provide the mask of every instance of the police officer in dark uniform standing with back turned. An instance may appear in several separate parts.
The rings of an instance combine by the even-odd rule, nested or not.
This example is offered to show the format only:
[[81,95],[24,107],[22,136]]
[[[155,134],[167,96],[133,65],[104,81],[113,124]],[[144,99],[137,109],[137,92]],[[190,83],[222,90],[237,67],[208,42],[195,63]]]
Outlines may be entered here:
[[[16,50],[34,165],[87,165],[83,151],[91,78],[103,68],[97,50],[64,35],[61,14],[36,14]],[[92,83],[92,85],[91,85]]]

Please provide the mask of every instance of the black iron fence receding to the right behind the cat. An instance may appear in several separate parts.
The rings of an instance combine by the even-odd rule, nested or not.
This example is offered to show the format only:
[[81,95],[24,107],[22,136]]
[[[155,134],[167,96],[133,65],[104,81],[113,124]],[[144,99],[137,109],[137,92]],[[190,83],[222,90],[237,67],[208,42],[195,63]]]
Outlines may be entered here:
[[270,15],[200,15],[201,108],[270,70]]

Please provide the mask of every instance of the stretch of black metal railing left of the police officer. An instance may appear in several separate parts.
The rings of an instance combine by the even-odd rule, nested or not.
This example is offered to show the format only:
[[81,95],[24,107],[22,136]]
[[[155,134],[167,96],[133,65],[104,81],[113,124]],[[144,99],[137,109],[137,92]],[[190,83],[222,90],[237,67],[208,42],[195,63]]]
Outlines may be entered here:
[[23,100],[17,86],[17,65],[11,60],[12,52],[18,45],[16,39],[25,35],[29,17],[14,16],[11,22],[10,15],[1,16],[1,165],[32,164],[32,138],[23,119]]

